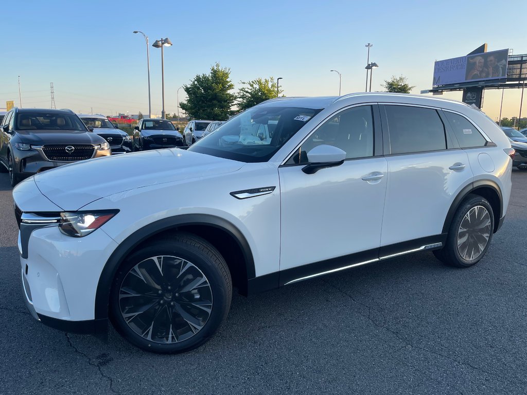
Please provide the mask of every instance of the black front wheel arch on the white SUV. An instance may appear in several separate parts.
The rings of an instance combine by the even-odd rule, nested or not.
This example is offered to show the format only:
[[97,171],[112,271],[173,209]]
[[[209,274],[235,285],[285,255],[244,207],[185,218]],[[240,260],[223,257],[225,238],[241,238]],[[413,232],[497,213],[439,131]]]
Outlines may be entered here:
[[[247,294],[248,280],[255,277],[255,264],[247,239],[231,222],[208,214],[183,214],[152,222],[122,241],[101,272],[95,294],[95,319],[108,318],[110,290],[121,263],[132,252],[163,233],[186,231],[210,242],[224,256],[241,294]],[[227,256],[226,256],[227,255]]]

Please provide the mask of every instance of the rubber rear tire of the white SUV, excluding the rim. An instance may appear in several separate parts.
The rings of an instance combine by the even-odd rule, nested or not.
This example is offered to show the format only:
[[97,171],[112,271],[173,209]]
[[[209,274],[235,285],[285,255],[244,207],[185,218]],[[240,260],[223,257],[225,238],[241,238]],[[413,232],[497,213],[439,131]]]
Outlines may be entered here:
[[[477,258],[473,260],[466,260],[464,259],[460,252],[457,249],[457,232],[460,228],[461,222],[465,218],[465,215],[467,212],[469,212],[471,209],[473,209],[475,206],[483,206],[488,212],[491,220],[491,231],[489,234],[489,240],[487,241],[487,244],[485,245],[485,248],[483,249],[482,253],[477,256]],[[457,260],[457,263],[459,266],[463,267],[469,267],[477,262],[479,262],[483,256],[485,256],[487,250],[489,249],[489,246],[492,241],[492,235],[494,232],[494,212],[492,210],[492,206],[490,203],[484,199],[484,197],[481,196],[471,196],[468,199],[466,199],[460,206],[460,208],[457,210],[454,220],[452,221],[452,225],[450,228],[450,232],[448,233],[448,239],[450,239],[450,245],[452,248],[452,253],[454,255],[454,258]]]

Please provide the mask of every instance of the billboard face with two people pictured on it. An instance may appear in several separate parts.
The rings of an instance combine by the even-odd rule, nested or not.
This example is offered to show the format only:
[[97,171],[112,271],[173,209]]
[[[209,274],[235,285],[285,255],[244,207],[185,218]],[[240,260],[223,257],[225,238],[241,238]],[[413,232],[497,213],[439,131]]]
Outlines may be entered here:
[[508,57],[509,50],[500,50],[436,61],[432,85],[506,78]]

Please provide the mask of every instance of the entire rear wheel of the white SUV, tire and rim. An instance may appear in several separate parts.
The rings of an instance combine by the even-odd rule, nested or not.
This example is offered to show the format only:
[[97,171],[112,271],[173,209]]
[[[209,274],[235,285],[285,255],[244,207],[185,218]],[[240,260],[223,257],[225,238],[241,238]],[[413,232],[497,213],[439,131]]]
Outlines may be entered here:
[[470,194],[454,214],[444,248],[433,253],[447,265],[469,268],[489,249],[493,231],[492,206],[484,197]]

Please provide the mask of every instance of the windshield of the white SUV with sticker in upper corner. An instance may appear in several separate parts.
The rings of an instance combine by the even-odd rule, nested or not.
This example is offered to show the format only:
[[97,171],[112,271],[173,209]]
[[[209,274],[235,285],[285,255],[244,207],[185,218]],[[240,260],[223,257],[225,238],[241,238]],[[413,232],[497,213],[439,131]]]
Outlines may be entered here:
[[267,162],[320,111],[298,107],[249,108],[188,150],[240,162]]

